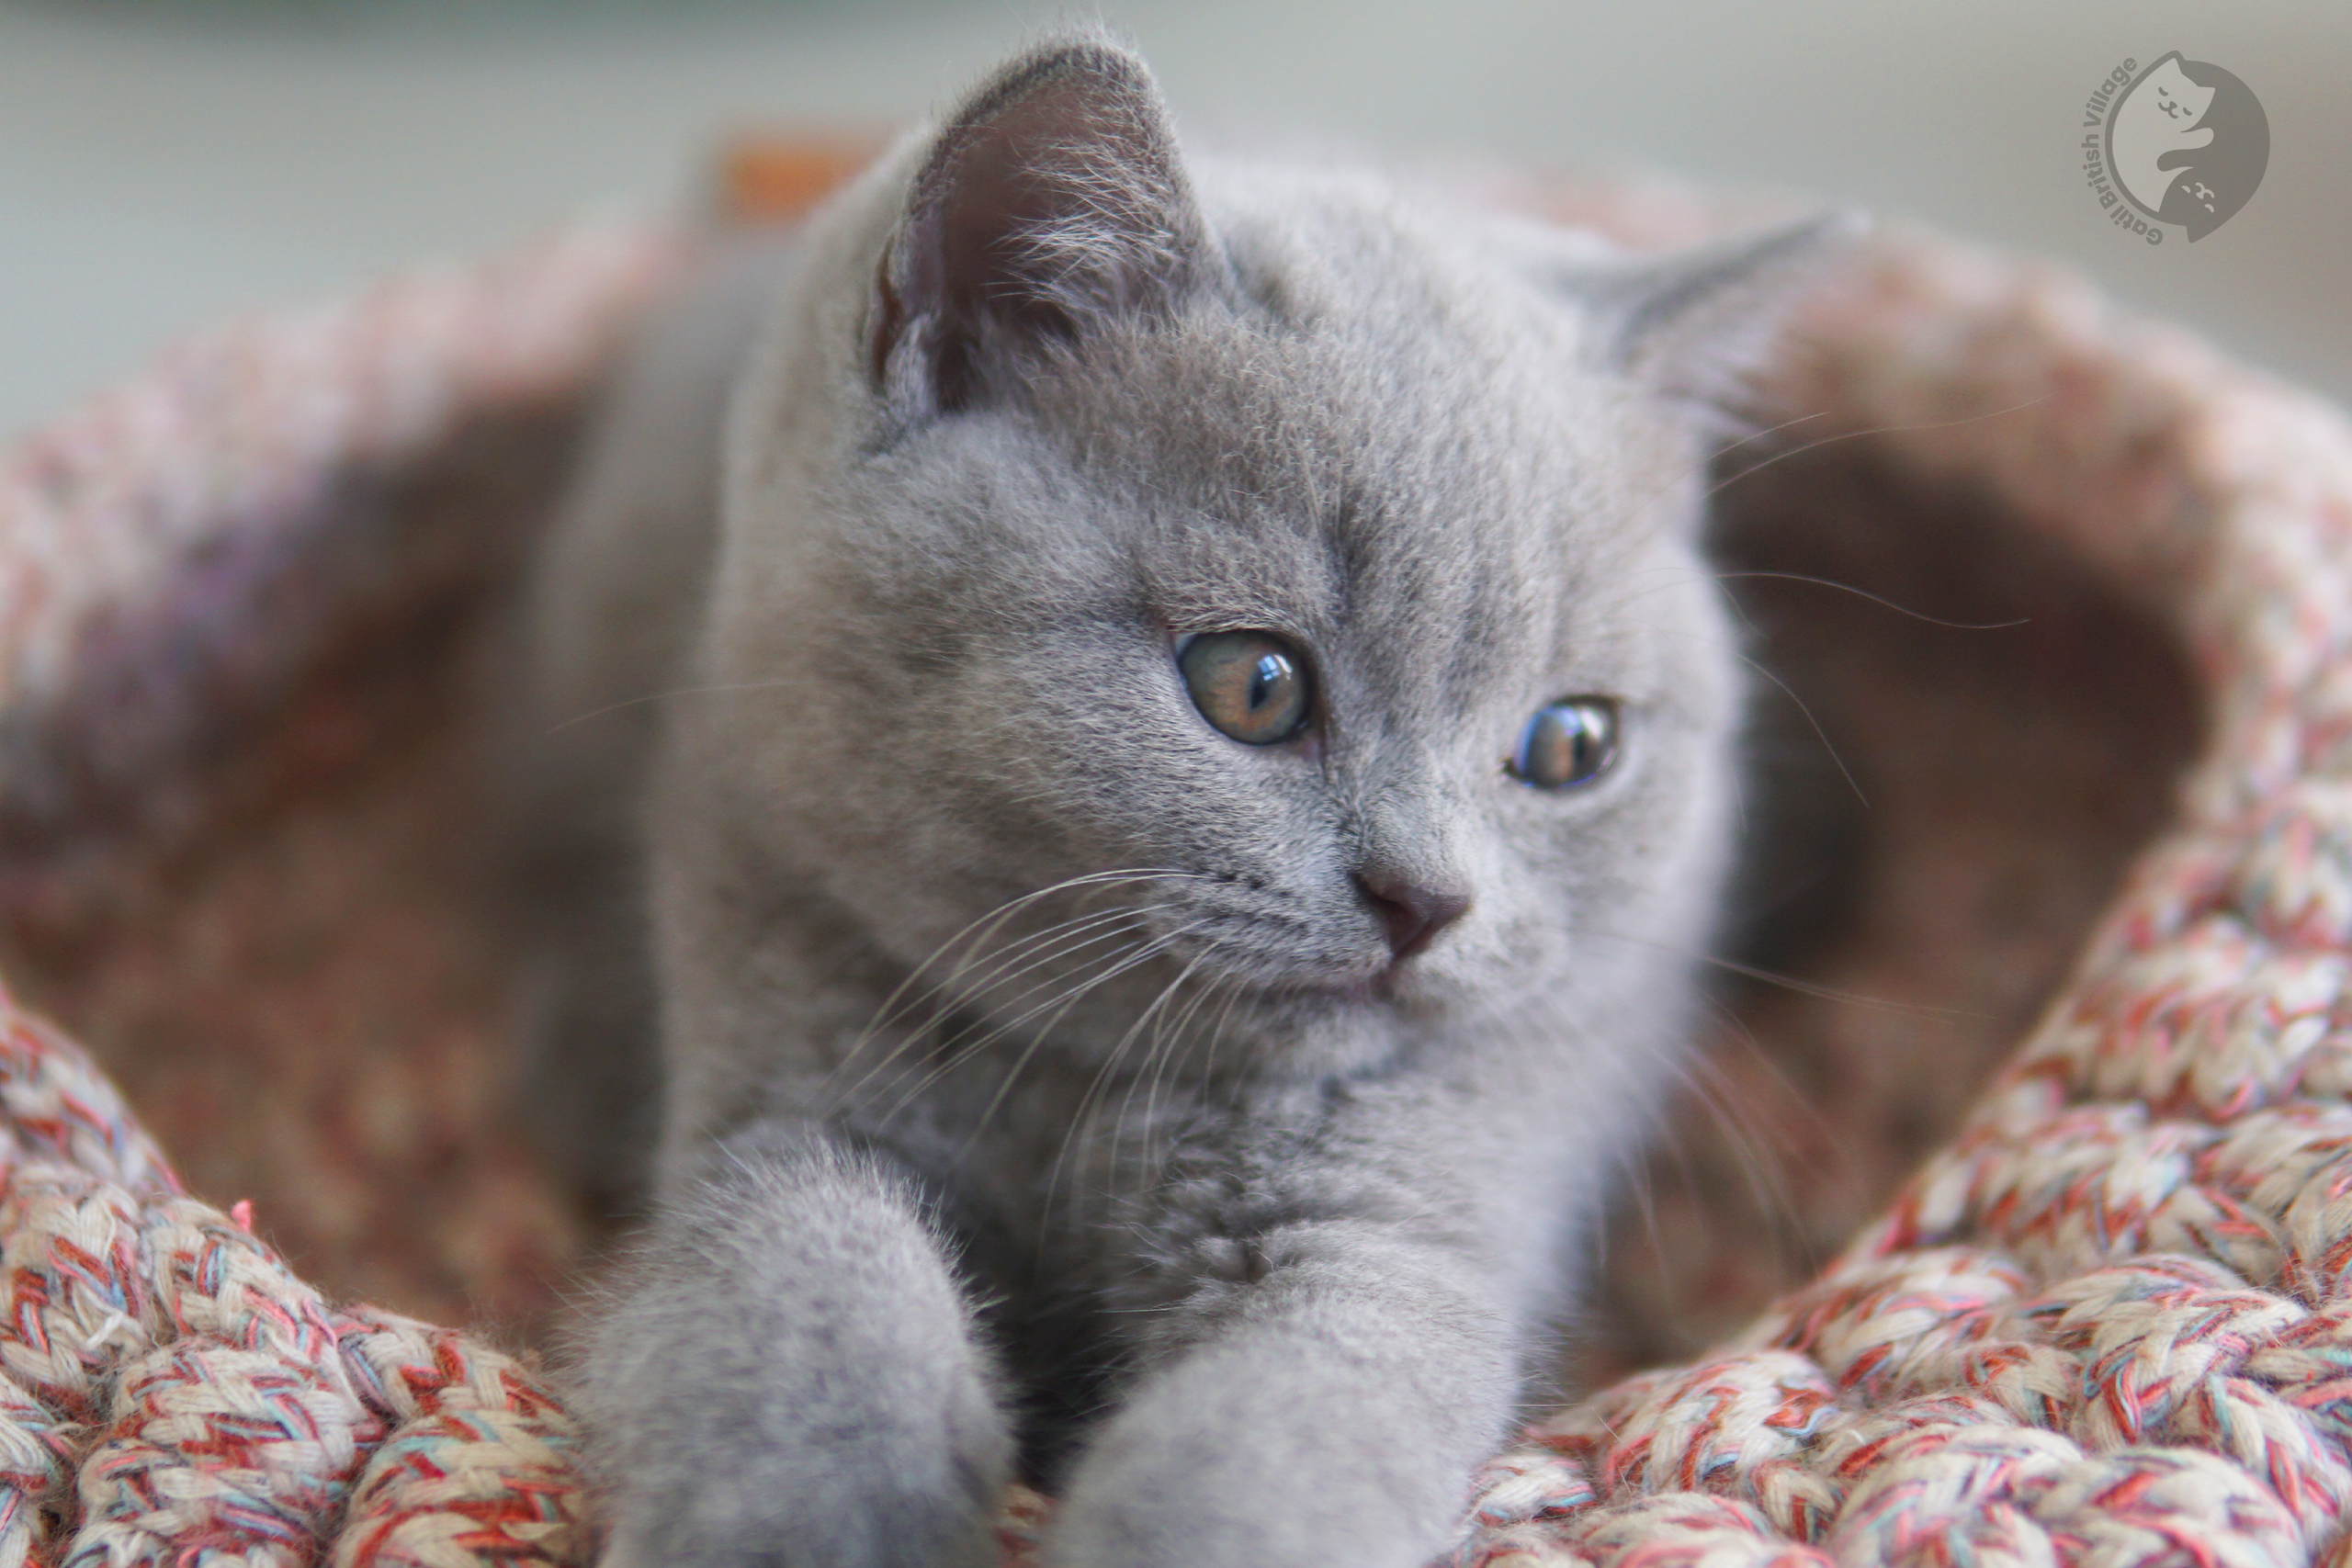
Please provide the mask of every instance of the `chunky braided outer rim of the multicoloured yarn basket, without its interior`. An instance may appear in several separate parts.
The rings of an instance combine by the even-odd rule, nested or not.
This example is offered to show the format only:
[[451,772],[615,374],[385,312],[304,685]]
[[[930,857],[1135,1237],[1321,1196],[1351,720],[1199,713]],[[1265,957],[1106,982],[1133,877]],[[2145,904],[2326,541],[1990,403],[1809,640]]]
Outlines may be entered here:
[[[1649,242],[1724,223],[1653,186],[1543,202]],[[73,691],[329,465],[576,386],[666,244],[433,284],[482,331],[423,310],[310,367],[214,346],[212,402],[181,364],[35,440],[0,470],[0,712]],[[485,346],[522,299],[534,346]],[[1907,235],[1764,397],[2147,604],[2197,658],[2204,757],[1945,1152],[1738,1340],[1494,1460],[1449,1563],[2352,1566],[2352,428],[2060,275]],[[522,1366],[329,1307],[14,1013],[0,1159],[0,1568],[588,1559],[569,1429]],[[1014,1559],[1044,1514],[1009,1512]]]

